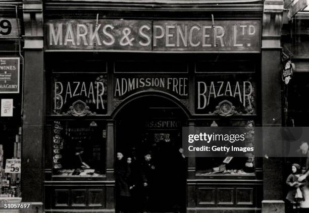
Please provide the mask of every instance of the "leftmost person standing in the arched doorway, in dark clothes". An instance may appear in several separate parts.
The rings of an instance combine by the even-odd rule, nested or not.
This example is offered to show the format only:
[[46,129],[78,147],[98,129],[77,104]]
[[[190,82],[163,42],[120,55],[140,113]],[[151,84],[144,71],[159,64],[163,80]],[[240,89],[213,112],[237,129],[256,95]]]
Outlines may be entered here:
[[128,179],[130,177],[130,167],[123,156],[122,152],[117,152],[117,159],[115,162],[115,179],[116,192],[119,200],[119,213],[127,213],[129,210],[128,202],[130,197],[130,190]]

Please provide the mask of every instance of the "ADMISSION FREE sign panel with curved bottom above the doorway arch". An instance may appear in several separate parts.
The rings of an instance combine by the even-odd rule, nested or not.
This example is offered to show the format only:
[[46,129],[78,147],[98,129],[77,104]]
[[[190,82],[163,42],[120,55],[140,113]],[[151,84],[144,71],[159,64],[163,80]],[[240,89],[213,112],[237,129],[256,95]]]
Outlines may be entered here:
[[188,89],[189,80],[185,75],[116,75],[114,79],[114,99],[118,100],[140,91],[161,91],[178,99],[187,99]]

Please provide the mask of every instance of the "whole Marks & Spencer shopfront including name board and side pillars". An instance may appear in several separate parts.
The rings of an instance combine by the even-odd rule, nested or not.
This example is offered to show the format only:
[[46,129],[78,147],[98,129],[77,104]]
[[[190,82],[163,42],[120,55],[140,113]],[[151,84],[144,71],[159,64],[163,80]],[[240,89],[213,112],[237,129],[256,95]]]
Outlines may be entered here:
[[243,126],[248,146],[281,126],[283,1],[218,3],[24,2],[25,202],[117,211],[116,152],[134,148],[160,169],[154,211],[283,212],[281,158],[216,174],[224,157],[177,157],[182,126]]

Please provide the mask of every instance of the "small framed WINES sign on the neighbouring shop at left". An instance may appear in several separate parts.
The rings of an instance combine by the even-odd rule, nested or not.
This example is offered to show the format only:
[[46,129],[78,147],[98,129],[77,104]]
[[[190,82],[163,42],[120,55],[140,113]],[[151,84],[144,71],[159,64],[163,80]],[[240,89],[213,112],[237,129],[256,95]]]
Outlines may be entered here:
[[0,93],[19,93],[19,58],[0,58]]

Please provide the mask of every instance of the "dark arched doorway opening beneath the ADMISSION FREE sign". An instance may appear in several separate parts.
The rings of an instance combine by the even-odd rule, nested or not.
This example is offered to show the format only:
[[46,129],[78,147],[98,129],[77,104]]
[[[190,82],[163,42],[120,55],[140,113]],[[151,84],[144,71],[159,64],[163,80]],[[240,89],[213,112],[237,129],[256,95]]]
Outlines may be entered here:
[[[131,210],[184,212],[186,203],[186,159],[180,152],[182,126],[187,114],[174,101],[158,96],[138,97],[127,103],[116,117],[116,152],[135,159],[136,188],[131,193]],[[151,186],[143,185],[145,155],[154,166]],[[148,174],[149,175],[149,174]],[[148,195],[148,200],[145,196]],[[121,205],[116,197],[116,210]]]

